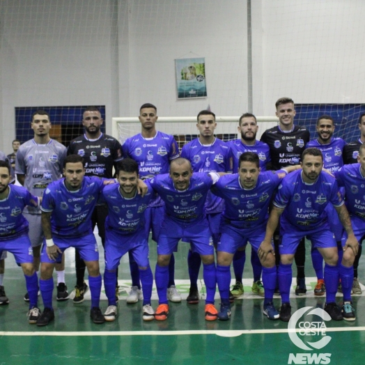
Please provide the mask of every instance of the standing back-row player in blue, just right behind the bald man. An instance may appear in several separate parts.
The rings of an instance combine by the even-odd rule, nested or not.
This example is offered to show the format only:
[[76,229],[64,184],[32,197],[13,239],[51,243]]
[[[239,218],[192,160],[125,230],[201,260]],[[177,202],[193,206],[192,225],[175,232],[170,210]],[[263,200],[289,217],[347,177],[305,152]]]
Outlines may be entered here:
[[[199,130],[199,138],[194,139],[181,150],[181,157],[186,158],[192,164],[194,172],[232,172],[231,150],[226,143],[217,139],[214,135],[217,123],[215,114],[209,110],[202,110],[197,116],[196,127]],[[219,222],[224,210],[224,201],[208,192],[205,201],[205,213],[207,215],[210,233],[213,243],[217,247],[219,238]],[[201,266],[201,257],[198,252],[189,249],[187,255],[189,269],[190,289],[187,296],[189,304],[199,303],[198,277]]]

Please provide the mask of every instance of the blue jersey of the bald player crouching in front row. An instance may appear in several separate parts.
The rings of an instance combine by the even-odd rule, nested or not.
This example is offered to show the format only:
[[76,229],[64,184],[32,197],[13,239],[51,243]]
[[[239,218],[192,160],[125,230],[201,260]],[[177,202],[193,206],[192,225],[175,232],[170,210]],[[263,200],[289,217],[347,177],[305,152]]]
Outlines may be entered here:
[[150,185],[166,205],[167,217],[178,223],[197,223],[205,218],[204,203],[212,186],[208,173],[193,173],[189,187],[183,192],[177,190],[169,174],[158,175]]

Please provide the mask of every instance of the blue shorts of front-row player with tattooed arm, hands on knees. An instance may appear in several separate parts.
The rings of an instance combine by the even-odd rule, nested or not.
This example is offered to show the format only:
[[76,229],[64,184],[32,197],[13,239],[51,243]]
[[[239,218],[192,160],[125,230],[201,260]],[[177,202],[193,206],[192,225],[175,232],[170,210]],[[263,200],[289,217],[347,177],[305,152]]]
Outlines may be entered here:
[[329,226],[317,227],[308,231],[286,230],[281,231],[279,241],[279,252],[281,255],[293,255],[297,251],[297,246],[302,238],[308,238],[311,241],[312,247],[319,249],[327,249],[329,247],[337,247],[334,233],[329,230]]

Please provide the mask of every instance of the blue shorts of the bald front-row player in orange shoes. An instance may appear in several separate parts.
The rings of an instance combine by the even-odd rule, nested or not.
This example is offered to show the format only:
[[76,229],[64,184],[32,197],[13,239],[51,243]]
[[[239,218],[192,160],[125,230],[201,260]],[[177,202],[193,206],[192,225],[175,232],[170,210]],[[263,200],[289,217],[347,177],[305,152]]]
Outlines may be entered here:
[[157,243],[157,254],[170,255],[176,251],[181,238],[187,238],[193,252],[200,255],[213,255],[214,247],[212,235],[207,219],[196,224],[177,223],[166,219],[162,223],[160,236]]

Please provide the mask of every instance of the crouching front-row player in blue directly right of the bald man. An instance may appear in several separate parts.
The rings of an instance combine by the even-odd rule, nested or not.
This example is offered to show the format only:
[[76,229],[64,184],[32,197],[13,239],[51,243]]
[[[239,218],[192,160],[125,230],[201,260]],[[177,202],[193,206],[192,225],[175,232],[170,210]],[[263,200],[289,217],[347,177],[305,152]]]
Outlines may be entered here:
[[[217,247],[217,284],[222,300],[218,313],[220,320],[228,320],[231,316],[228,294],[231,283],[230,266],[235,251],[239,247],[246,247],[249,242],[257,253],[265,238],[271,196],[286,173],[297,169],[297,166],[288,166],[278,171],[261,172],[259,157],[252,152],[242,153],[239,162],[238,173],[222,176],[212,187],[213,194],[222,197],[226,203],[220,226],[222,234]],[[263,313],[275,320],[279,318],[279,312],[272,302],[277,284],[274,255],[268,254],[261,263],[265,288]]]

